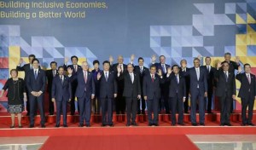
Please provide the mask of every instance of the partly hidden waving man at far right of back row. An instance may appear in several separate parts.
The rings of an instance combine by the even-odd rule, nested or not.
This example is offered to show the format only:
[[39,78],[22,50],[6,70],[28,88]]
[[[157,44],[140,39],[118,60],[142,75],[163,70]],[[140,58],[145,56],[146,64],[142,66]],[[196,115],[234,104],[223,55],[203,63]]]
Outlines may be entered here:
[[[236,60],[235,61],[231,61],[231,54],[228,52],[228,53],[225,53],[224,54],[224,60],[226,62],[229,63],[230,67],[229,67],[229,72],[233,72],[235,73],[235,70],[238,69],[238,66],[240,66],[240,59],[239,57],[236,57]],[[233,101],[230,103],[230,113],[233,113],[233,109],[234,109],[234,105],[233,105]]]

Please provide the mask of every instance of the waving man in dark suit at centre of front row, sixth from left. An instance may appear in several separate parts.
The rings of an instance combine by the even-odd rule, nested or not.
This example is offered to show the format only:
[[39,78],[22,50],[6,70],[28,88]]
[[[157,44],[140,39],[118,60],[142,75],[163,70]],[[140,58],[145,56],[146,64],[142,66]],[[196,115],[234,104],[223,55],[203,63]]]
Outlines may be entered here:
[[126,126],[136,124],[136,114],[137,114],[137,99],[141,98],[141,83],[140,77],[136,72],[133,72],[134,67],[132,64],[127,65],[127,71],[121,74],[121,69],[118,68],[118,80],[124,79],[125,87],[123,96],[126,101]]

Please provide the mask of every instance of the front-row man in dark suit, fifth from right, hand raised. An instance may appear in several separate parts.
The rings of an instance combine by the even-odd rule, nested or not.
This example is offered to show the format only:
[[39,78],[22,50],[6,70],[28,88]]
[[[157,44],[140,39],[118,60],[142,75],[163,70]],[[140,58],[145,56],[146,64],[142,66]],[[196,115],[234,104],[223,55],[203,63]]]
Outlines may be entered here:
[[[150,66],[150,73],[143,78],[143,95],[148,107],[148,125],[158,126],[159,101],[161,96],[160,84],[165,81],[161,70],[156,73],[156,66]],[[154,118],[152,119],[152,113]]]

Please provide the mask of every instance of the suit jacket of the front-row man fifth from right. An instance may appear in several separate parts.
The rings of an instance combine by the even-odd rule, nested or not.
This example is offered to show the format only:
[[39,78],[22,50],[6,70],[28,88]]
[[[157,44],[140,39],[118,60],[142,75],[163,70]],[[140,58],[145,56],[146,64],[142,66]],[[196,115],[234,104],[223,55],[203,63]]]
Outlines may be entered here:
[[143,78],[143,95],[147,96],[148,100],[152,100],[154,95],[157,99],[161,97],[160,84],[165,83],[164,78],[160,78],[158,74],[154,74],[154,82],[150,73]]

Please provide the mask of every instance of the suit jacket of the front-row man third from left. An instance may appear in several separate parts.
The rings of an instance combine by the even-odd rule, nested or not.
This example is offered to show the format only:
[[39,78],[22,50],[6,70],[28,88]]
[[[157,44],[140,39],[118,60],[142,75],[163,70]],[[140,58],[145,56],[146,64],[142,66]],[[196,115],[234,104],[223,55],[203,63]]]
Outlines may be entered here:
[[56,101],[68,101],[72,98],[70,78],[64,76],[63,84],[59,75],[56,75],[52,81],[51,97]]

